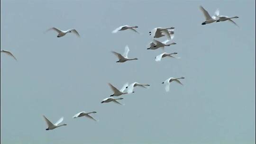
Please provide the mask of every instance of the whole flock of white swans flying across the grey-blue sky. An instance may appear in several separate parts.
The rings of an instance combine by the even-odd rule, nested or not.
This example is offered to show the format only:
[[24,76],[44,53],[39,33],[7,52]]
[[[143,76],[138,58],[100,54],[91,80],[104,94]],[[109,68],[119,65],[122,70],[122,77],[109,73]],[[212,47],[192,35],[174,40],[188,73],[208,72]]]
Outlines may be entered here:
[[[216,12],[213,16],[210,16],[209,13],[202,6],[200,6],[200,9],[201,9],[201,11],[202,11],[202,13],[203,13],[203,15],[206,19],[204,22],[202,22],[201,25],[206,25],[206,24],[210,24],[210,23],[213,23],[213,22],[228,20],[228,21],[234,23],[236,26],[238,26],[232,20],[233,18],[238,18],[237,16],[236,17],[219,16],[219,9],[216,10]],[[125,26],[121,26],[121,27],[116,28],[115,30],[112,31],[112,33],[118,33],[120,31],[124,31],[124,30],[128,30],[128,29],[138,33],[136,28],[137,28],[137,26],[130,27],[128,25],[125,25]],[[67,33],[74,33],[76,36],[80,37],[79,33],[75,29],[69,29],[69,30],[64,31],[64,30],[59,30],[55,27],[52,27],[52,28],[50,28],[46,31],[49,31],[49,30],[55,30],[58,33],[57,37],[65,36]],[[170,42],[174,38],[174,27],[169,27],[169,28],[155,27],[149,32],[149,35],[153,37],[153,40],[149,44],[149,48],[147,48],[147,49],[151,49],[151,50],[156,50],[158,48],[163,48],[164,49],[165,46],[170,46],[170,45],[175,45],[176,44],[174,42],[167,44],[168,42]],[[160,38],[160,37],[163,37],[163,36],[166,36],[167,40],[165,40],[163,42],[160,42],[160,41],[155,39],[155,38]],[[1,50],[0,52],[4,53],[4,54],[8,54],[9,56],[11,56],[15,60],[17,60],[16,57],[11,52],[9,52],[7,50]],[[117,61],[117,63],[124,63],[126,61],[137,60],[137,58],[131,58],[131,59],[128,58],[128,52],[129,52],[128,45],[125,46],[124,54],[119,54],[117,52],[112,51],[112,53],[115,54],[119,59],[119,61]],[[179,58],[179,57],[175,57],[174,56],[175,54],[177,54],[177,53],[162,53],[162,54],[159,54],[159,55],[155,56],[155,61],[159,62],[159,61],[161,61],[162,58],[165,58],[165,57]],[[184,77],[179,77],[179,78],[171,77],[171,78],[168,78],[167,80],[165,80],[164,82],[162,82],[163,84],[165,84],[165,91],[168,92],[170,90],[170,83],[172,81],[175,81],[175,82],[183,85],[182,82],[180,81],[181,79],[184,79]],[[101,101],[101,103],[108,103],[108,102],[112,101],[112,102],[117,103],[119,105],[124,105],[124,104],[121,104],[121,103],[118,102],[118,100],[123,99],[123,98],[115,99],[115,98],[113,98],[113,96],[118,97],[118,96],[121,96],[121,95],[124,95],[124,94],[131,94],[131,93],[134,93],[133,89],[136,86],[147,88],[146,86],[150,86],[150,85],[149,84],[141,84],[141,83],[138,83],[138,82],[133,82],[131,84],[125,83],[120,90],[118,90],[116,87],[114,87],[111,83],[109,83],[109,86],[110,86],[111,90],[114,93],[112,95],[110,95],[109,98],[103,99]],[[125,90],[127,90],[127,91],[125,92]],[[79,112],[79,113],[75,114],[73,116],[73,118],[88,117],[88,118],[90,118],[94,121],[98,121],[98,120],[96,120],[96,119],[94,119],[93,117],[90,116],[90,114],[92,114],[92,113],[96,113],[96,111],[89,112],[89,113],[86,113],[86,112],[82,111],[82,112]],[[59,125],[64,120],[63,117],[61,117],[55,124],[53,124],[50,120],[48,120],[44,115],[43,115],[43,117],[44,117],[44,119],[46,121],[46,124],[48,126],[46,128],[46,130],[52,130],[52,129],[55,129],[55,128],[60,127],[60,126],[66,126],[66,124]]]

